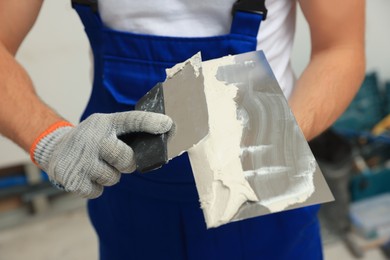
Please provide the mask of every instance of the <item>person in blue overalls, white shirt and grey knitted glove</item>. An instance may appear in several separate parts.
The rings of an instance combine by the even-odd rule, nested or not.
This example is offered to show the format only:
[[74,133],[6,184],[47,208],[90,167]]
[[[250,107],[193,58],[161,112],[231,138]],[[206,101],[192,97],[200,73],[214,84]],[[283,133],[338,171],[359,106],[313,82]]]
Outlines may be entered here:
[[[42,2],[0,2],[0,131],[58,186],[90,198],[100,259],[322,258],[317,206],[206,229],[188,157],[142,175],[118,135],[172,131],[167,116],[131,111],[164,80],[165,68],[198,51],[207,60],[262,49],[311,140],[344,111],[363,79],[364,0],[266,0],[268,12],[263,0],[74,1],[95,70],[78,125],[37,97],[14,59]],[[312,49],[295,80],[289,59],[297,3]]]

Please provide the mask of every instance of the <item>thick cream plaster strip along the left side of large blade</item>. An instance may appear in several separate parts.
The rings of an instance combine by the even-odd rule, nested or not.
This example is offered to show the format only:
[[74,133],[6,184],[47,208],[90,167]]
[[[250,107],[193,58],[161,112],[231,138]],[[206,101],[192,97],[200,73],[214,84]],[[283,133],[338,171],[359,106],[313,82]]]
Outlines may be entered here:
[[238,89],[216,79],[219,66],[233,63],[233,57],[225,57],[202,64],[210,132],[188,151],[208,228],[229,222],[244,203],[258,200],[240,159],[243,126],[234,101]]

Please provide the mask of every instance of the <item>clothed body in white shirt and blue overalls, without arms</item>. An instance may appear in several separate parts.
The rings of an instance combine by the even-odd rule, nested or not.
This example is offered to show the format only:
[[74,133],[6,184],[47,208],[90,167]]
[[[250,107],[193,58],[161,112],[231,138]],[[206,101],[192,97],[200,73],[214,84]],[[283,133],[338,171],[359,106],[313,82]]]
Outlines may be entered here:
[[[294,5],[290,0],[266,2],[269,15],[260,33],[262,17],[258,14],[236,12],[232,20],[233,0],[100,0],[101,16],[91,11],[96,8],[85,5],[93,1],[79,2],[83,4],[74,6],[91,43],[95,69],[83,118],[133,109],[142,95],[165,79],[166,68],[198,51],[208,60],[263,49],[285,94],[291,90],[293,77],[288,64]],[[221,259],[321,258],[315,207],[226,225],[205,238],[197,235],[200,230],[208,232],[204,231],[198,200],[185,154],[153,172],[122,174],[118,184],[106,187],[102,196],[89,201],[101,259],[159,259],[161,252],[167,255],[172,247],[188,251],[188,259],[205,259],[198,257],[198,252],[217,259],[214,256],[221,254],[214,255],[215,249],[228,255]],[[170,223],[180,229],[172,229]],[[177,240],[167,236],[177,236]],[[239,256],[227,253],[226,246],[236,249]],[[158,256],[145,257],[150,252]]]

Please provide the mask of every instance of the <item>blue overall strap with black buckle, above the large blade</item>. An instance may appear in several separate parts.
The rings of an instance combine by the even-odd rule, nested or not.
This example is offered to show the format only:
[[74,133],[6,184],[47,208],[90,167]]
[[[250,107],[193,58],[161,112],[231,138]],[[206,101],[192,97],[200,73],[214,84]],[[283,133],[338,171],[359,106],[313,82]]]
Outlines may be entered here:
[[233,5],[231,34],[257,37],[261,21],[267,18],[265,0],[237,0]]

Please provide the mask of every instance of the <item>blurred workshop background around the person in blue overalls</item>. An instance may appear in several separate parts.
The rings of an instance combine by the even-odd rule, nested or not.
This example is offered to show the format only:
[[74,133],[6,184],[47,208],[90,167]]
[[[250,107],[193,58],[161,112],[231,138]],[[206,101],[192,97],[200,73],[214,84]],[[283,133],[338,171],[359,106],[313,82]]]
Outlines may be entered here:
[[[366,79],[343,116],[310,143],[336,198],[320,212],[325,259],[390,259],[389,10],[388,0],[367,1]],[[298,10],[297,75],[309,52]],[[91,66],[70,1],[44,2],[17,59],[42,99],[77,123],[91,91]],[[97,259],[85,203],[52,188],[28,155],[0,136],[0,260]]]

